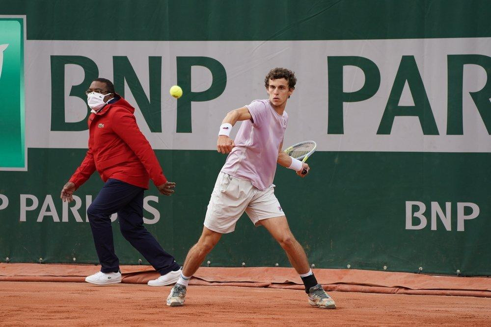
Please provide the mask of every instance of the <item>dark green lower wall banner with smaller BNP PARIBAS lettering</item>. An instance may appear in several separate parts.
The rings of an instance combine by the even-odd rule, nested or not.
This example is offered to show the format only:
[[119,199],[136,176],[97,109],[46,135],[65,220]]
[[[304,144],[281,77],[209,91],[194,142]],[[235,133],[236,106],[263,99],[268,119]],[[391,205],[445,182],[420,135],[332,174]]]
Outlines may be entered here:
[[[157,154],[177,187],[172,197],[159,197],[153,186],[145,193],[146,227],[182,262],[201,234],[225,158],[216,151]],[[61,186],[83,156],[83,150],[29,149],[28,172],[1,173],[9,183],[0,187],[0,194],[8,198],[6,207],[0,205],[0,258],[97,262],[85,209],[102,187],[99,176],[77,190],[80,201],[63,207],[59,200]],[[422,267],[425,273],[460,270],[463,275],[489,275],[490,178],[481,172],[490,162],[490,153],[316,152],[309,159],[313,169],[308,178],[278,169],[275,194],[315,267],[386,266],[405,272]],[[459,182],[449,177],[456,175]],[[420,204],[408,211],[408,202]],[[412,217],[422,205],[426,210],[418,216],[423,221]],[[468,219],[476,210],[479,215]],[[144,260],[121,236],[117,220],[113,232],[123,263]],[[279,245],[264,228],[253,227],[246,215],[208,260],[215,266],[289,266]]]

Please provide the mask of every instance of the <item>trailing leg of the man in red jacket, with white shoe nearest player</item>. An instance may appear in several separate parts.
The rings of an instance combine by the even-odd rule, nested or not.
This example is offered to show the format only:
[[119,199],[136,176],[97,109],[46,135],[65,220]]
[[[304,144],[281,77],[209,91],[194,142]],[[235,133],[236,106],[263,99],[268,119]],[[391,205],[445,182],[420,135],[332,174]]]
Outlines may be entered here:
[[148,285],[170,285],[181,276],[181,267],[143,226],[143,196],[144,189],[139,188],[135,197],[118,211],[119,228],[124,238],[160,273],[161,276],[150,280]]

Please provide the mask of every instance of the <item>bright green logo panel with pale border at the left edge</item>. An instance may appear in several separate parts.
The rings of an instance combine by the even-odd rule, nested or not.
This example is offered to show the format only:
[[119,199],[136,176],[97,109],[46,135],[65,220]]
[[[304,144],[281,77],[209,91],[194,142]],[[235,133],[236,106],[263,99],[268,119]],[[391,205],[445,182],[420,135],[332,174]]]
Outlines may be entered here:
[[27,170],[24,19],[0,16],[0,170]]

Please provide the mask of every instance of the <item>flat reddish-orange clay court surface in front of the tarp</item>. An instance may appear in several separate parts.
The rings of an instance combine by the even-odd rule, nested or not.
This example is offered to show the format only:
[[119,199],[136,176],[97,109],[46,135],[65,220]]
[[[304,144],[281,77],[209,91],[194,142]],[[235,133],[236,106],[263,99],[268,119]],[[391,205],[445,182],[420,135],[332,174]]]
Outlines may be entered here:
[[300,290],[190,286],[168,307],[170,286],[0,282],[0,325],[491,325],[491,299],[329,292],[335,310],[311,307]]

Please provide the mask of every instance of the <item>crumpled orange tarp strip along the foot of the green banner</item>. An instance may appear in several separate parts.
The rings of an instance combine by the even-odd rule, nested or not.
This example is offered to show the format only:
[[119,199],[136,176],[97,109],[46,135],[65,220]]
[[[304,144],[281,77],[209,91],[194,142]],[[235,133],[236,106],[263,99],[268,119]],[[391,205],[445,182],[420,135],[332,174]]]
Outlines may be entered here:
[[[83,282],[100,270],[95,265],[0,263],[0,281]],[[150,266],[121,266],[123,283],[145,284],[159,274]],[[458,295],[491,298],[491,278],[429,276],[355,269],[314,269],[328,291]],[[293,268],[201,267],[191,285],[221,285],[303,289]]]

